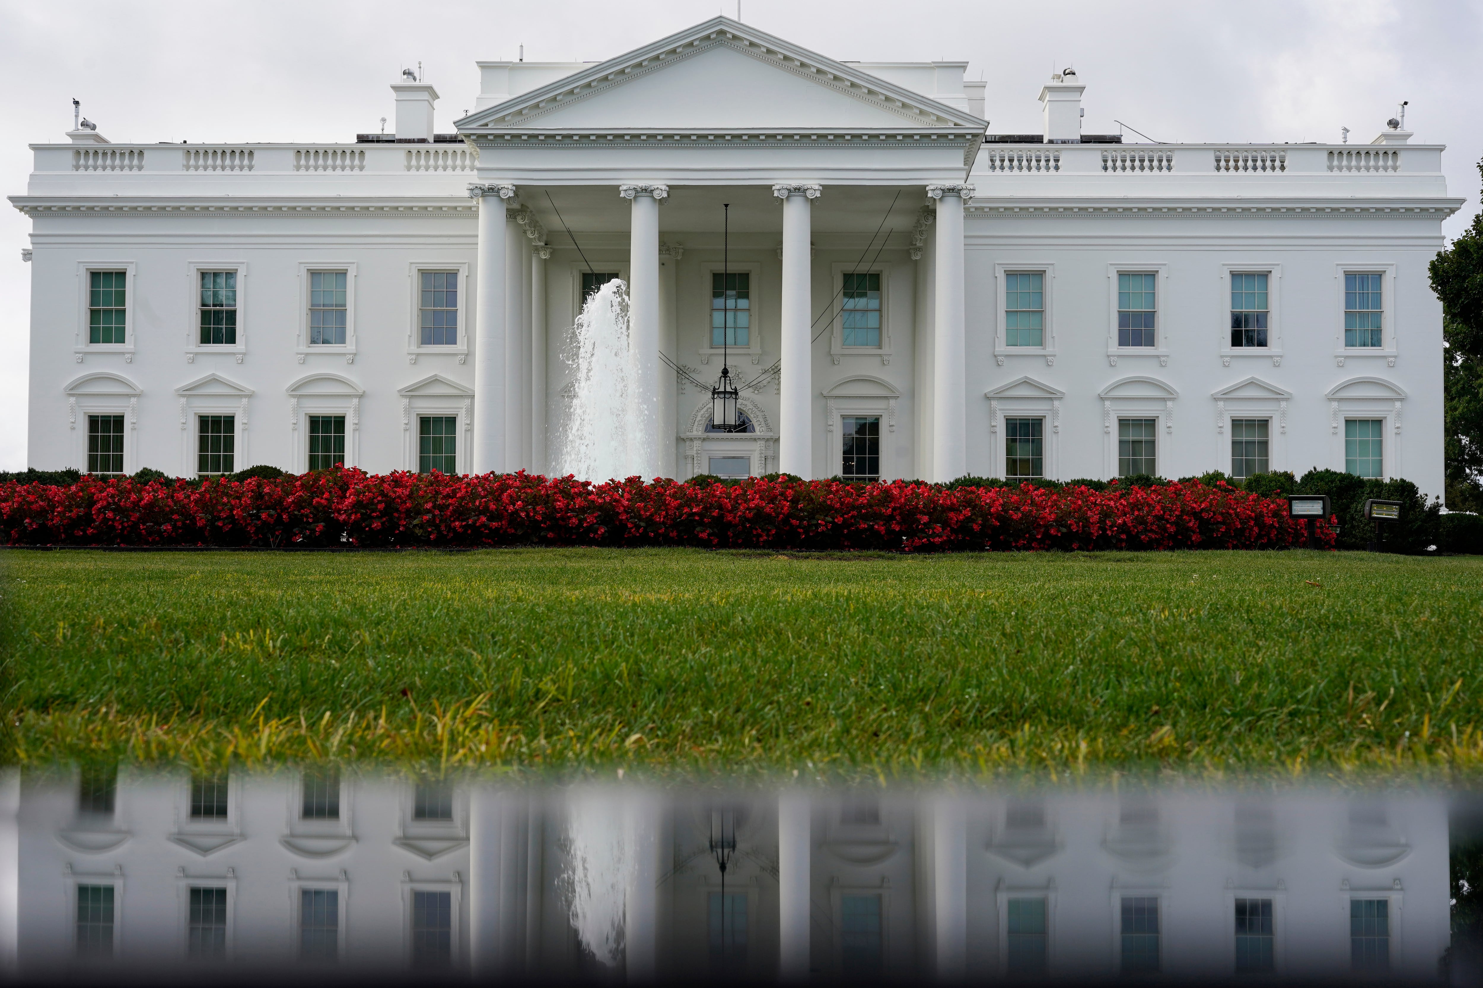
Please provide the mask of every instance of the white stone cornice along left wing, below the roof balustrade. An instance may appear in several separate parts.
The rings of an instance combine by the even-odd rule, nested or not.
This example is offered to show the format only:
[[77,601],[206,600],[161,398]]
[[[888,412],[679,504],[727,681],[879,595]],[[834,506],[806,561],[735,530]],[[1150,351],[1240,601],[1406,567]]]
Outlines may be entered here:
[[10,204],[27,216],[98,216],[102,213],[132,216],[472,216],[478,201],[469,198],[248,198],[242,196],[212,198],[125,198],[108,196],[43,197],[10,196]]

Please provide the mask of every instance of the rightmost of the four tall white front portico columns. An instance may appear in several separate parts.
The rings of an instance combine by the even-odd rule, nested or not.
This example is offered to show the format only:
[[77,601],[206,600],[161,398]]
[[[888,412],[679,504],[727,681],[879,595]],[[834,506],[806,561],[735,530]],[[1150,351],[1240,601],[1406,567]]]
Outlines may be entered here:
[[965,301],[962,280],[962,203],[973,198],[971,185],[928,185],[937,200],[936,284],[933,304],[933,474],[930,480],[957,480],[968,464],[967,378],[964,361]]

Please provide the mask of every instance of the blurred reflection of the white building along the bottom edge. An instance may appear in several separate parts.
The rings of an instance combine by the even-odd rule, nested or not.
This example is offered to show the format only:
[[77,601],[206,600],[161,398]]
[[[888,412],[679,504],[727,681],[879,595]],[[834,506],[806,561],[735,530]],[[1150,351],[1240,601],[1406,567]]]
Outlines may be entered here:
[[541,790],[331,769],[0,790],[0,954],[21,978],[1437,982],[1450,939],[1458,800],[1427,792]]

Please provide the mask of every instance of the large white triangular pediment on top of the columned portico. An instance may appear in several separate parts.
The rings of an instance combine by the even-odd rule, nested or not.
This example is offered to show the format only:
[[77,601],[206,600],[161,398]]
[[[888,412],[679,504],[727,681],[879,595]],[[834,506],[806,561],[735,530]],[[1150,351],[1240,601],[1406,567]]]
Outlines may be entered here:
[[971,114],[730,18],[672,34],[457,124],[480,129],[965,127]]

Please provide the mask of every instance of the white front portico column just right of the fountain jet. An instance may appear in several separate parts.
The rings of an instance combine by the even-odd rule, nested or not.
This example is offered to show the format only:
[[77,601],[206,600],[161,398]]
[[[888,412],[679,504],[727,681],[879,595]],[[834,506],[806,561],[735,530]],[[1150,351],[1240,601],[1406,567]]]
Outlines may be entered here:
[[623,185],[618,193],[633,200],[629,221],[629,345],[633,347],[638,379],[638,421],[647,437],[645,480],[660,475],[658,447],[658,204],[667,185]]

